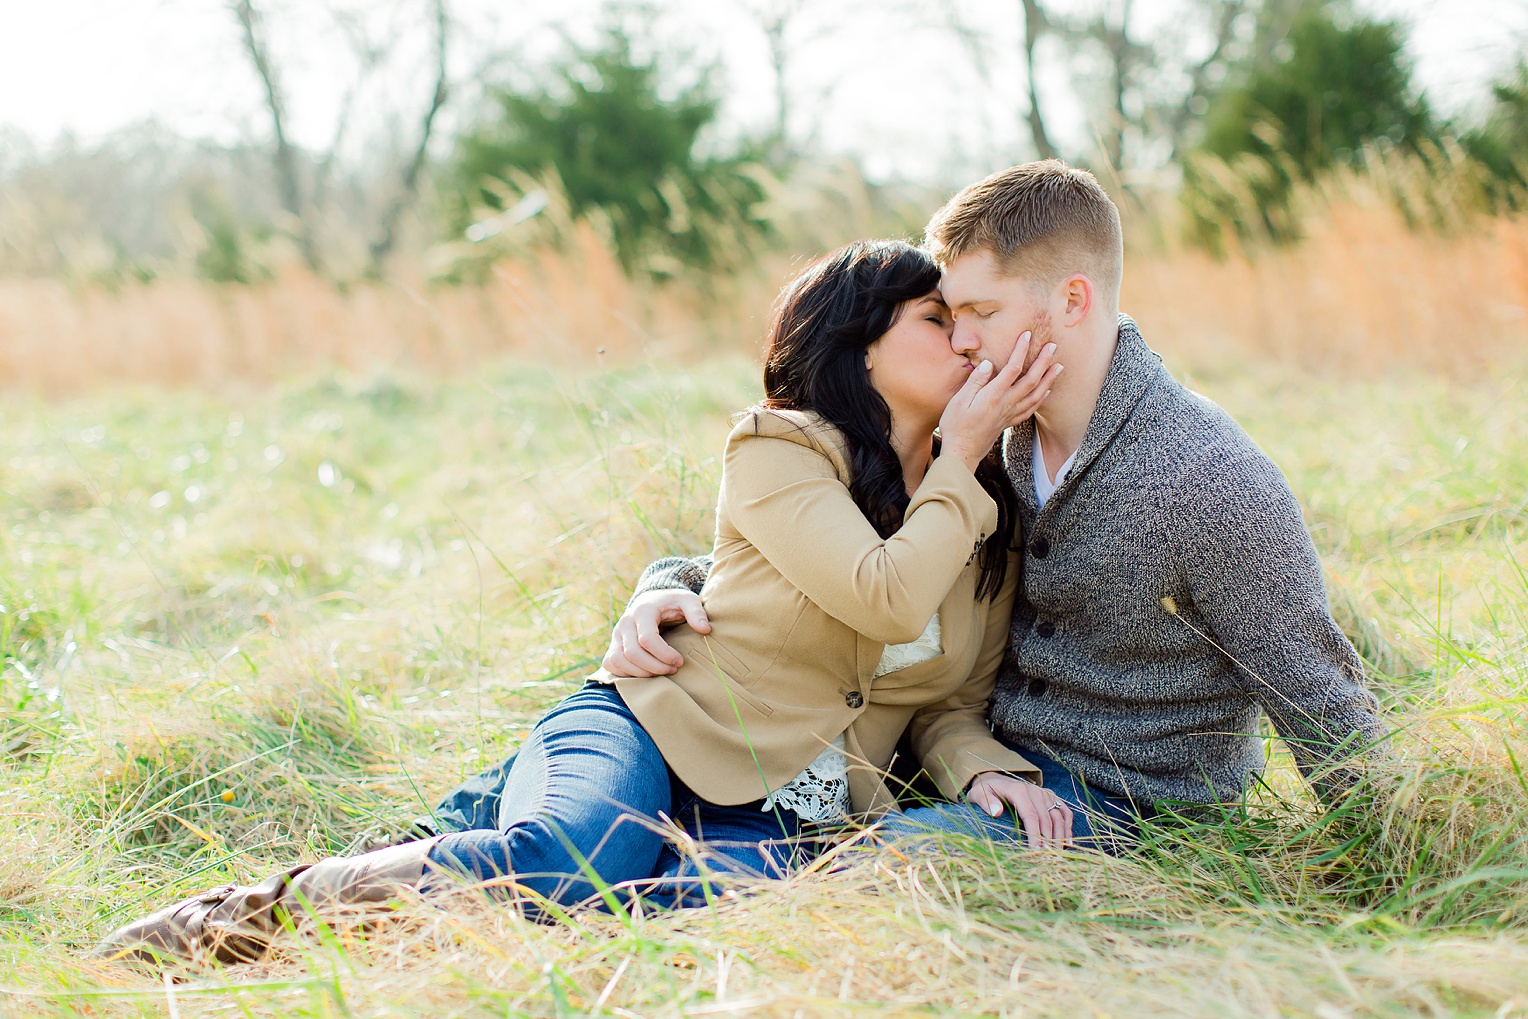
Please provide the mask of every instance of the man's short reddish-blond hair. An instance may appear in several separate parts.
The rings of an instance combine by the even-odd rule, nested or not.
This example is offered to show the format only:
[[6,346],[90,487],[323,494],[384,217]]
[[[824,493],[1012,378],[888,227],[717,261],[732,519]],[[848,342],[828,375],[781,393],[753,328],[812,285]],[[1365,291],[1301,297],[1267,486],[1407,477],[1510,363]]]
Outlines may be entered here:
[[1080,272],[1117,306],[1125,273],[1120,211],[1086,170],[1059,159],[1008,167],[934,214],[924,244],[940,266],[990,251],[1004,275],[1050,287]]

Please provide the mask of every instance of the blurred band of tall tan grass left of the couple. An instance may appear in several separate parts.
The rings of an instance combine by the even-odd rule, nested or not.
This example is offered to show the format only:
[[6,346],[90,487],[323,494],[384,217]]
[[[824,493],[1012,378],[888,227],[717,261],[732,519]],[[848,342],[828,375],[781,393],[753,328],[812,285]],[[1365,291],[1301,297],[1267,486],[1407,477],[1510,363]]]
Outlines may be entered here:
[[776,275],[637,284],[581,228],[559,249],[500,263],[490,280],[465,287],[396,280],[341,290],[298,269],[248,287],[0,280],[0,377],[63,396],[104,383],[266,382],[330,367],[452,374],[512,353],[587,364],[652,348],[746,348]]

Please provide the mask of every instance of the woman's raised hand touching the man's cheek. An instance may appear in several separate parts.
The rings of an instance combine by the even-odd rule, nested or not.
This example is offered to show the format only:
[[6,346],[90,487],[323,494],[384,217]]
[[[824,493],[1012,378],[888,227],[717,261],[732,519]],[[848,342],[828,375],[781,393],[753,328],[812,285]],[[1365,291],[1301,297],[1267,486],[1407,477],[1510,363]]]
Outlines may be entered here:
[[1056,344],[1045,344],[1025,371],[1031,339],[1031,333],[1019,336],[996,377],[990,361],[972,370],[940,417],[940,455],[958,457],[975,471],[1002,429],[1027,419],[1050,396],[1051,382],[1062,371],[1051,361]]

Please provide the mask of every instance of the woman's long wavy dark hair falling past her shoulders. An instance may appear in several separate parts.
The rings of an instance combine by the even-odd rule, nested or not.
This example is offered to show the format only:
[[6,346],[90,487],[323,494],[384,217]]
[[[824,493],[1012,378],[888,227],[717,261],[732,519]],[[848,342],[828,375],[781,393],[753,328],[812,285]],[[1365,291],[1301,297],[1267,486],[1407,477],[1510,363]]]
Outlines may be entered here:
[[[908,489],[891,446],[891,408],[869,382],[865,348],[902,306],[940,284],[927,252],[903,241],[854,241],[813,263],[781,293],[764,348],[764,405],[816,411],[848,440],[850,495],[882,538],[902,527]],[[976,596],[992,599],[1007,573],[1018,498],[996,446],[976,467],[998,503],[998,529],[981,545]]]

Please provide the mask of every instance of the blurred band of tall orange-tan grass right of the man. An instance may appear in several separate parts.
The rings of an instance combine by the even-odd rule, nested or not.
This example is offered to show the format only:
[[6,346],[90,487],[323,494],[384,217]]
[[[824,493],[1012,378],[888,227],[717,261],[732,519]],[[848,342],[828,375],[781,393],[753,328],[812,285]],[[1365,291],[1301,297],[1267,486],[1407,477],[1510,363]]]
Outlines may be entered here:
[[1195,364],[1293,361],[1473,373],[1528,353],[1528,218],[1455,235],[1410,231],[1390,205],[1343,203],[1300,244],[1215,260],[1129,260],[1122,304]]

